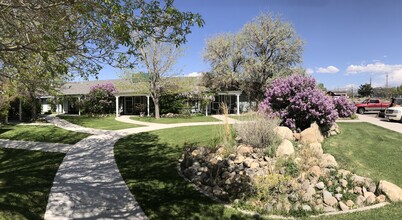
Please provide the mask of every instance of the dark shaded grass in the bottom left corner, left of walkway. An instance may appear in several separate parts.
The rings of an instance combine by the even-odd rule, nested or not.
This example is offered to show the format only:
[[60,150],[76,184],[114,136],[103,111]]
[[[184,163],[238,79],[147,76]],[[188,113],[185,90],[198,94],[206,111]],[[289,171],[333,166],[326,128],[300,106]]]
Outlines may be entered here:
[[0,148],[0,219],[43,219],[62,153]]

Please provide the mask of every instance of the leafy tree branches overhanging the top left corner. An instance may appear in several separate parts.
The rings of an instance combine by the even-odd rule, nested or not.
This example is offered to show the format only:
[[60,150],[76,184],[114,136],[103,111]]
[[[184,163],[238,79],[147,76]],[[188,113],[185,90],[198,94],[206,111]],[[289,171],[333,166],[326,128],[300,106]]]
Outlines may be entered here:
[[[21,80],[27,62],[41,60],[37,83],[96,75],[104,64],[135,65],[150,38],[180,45],[199,14],[173,0],[0,0],[0,78]],[[136,33],[133,37],[132,33]],[[29,62],[28,62],[29,63]]]

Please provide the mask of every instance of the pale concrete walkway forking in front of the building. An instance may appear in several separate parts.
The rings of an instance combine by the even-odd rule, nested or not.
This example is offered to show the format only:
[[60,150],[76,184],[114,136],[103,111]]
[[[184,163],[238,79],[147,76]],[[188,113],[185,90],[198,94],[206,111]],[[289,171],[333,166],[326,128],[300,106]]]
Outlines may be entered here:
[[104,131],[84,128],[54,116],[46,119],[58,127],[94,135],[75,144],[64,157],[50,191],[45,219],[147,219],[119,172],[114,144],[129,134],[223,123],[159,124],[121,116],[116,120],[144,127]]

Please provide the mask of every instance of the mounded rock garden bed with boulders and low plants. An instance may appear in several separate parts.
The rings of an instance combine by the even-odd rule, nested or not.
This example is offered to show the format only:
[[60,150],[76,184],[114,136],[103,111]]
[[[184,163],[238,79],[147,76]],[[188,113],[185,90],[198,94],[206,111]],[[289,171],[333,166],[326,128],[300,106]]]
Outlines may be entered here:
[[229,155],[223,146],[187,148],[180,172],[211,197],[265,214],[298,216],[402,201],[398,186],[341,169],[323,153],[324,137],[340,132],[336,124],[325,133],[316,124],[300,133],[274,131],[281,139],[274,155],[237,138]]

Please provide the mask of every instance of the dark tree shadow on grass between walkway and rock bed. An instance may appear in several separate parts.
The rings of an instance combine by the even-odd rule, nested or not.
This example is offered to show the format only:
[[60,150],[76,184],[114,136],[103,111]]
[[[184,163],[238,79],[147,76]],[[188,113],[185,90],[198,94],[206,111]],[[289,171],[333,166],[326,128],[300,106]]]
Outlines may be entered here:
[[115,145],[120,172],[150,219],[244,219],[196,191],[176,166],[183,146],[161,143],[157,135],[140,133]]

